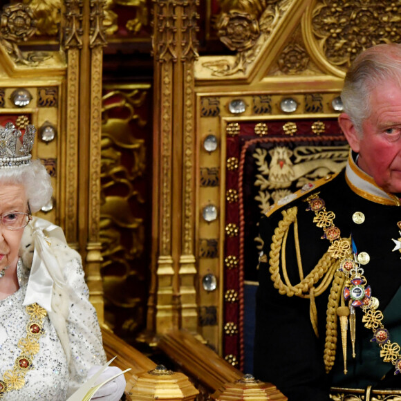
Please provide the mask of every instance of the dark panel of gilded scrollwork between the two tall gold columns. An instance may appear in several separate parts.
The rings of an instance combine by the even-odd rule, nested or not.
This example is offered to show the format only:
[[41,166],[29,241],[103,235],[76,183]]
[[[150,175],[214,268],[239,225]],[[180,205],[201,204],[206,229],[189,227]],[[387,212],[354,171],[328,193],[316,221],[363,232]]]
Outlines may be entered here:
[[[128,286],[144,288],[145,277],[138,268],[145,241],[146,218],[138,214],[146,199],[140,180],[147,167],[146,146],[137,138],[135,127],[147,120],[138,109],[144,105],[149,88],[111,88],[103,96],[100,240],[102,242],[103,286],[109,305],[106,319],[114,326],[112,311],[119,313],[119,329],[134,333],[144,321],[145,297],[132,295]],[[109,315],[108,315],[109,314]]]

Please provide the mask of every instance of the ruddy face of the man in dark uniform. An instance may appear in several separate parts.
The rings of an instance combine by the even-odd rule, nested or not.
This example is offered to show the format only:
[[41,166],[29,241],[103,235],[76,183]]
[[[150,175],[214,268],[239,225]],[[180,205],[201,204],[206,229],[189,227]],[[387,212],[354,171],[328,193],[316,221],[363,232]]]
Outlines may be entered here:
[[[371,93],[371,115],[362,136],[349,141],[358,166],[384,191],[401,192],[401,88],[384,82]],[[348,136],[347,136],[348,138]],[[353,143],[352,143],[353,142]]]

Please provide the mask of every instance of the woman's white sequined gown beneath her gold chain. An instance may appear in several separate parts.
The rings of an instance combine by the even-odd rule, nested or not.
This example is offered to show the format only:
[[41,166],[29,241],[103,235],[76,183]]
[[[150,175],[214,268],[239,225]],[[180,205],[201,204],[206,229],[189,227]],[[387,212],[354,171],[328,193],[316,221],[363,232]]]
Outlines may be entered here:
[[[70,288],[66,320],[69,369],[62,343],[47,315],[44,319],[45,333],[39,338],[39,352],[32,357],[33,369],[26,373],[25,385],[19,390],[6,392],[2,401],[64,401],[85,381],[91,366],[106,362],[97,315],[88,301],[81,260],[71,248],[63,248],[64,257],[67,254],[73,256],[62,269]],[[12,370],[16,358],[21,355],[17,346],[19,339],[26,337],[30,316],[23,302],[29,273],[20,259],[17,268],[20,288],[0,301],[0,380],[3,380],[5,371]]]

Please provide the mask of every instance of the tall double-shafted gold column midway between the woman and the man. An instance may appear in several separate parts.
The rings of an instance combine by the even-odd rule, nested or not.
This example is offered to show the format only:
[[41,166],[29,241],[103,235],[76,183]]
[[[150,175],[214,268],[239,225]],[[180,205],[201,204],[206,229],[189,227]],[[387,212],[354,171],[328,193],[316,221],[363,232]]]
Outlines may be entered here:
[[[194,257],[194,59],[197,0],[153,2],[155,77],[153,331],[196,331]],[[149,325],[148,325],[148,328]]]

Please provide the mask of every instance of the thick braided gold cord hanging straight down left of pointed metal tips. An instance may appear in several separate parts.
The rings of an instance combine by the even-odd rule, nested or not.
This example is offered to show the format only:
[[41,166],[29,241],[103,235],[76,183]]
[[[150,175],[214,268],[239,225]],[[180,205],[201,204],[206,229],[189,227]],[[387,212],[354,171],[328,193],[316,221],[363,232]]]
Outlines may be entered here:
[[[337,270],[339,261],[335,260],[333,266]],[[324,343],[323,360],[326,373],[330,372],[335,362],[335,351],[337,348],[337,308],[342,298],[342,289],[344,287],[345,274],[343,272],[335,272],[333,285],[330,289],[327,304],[326,316],[326,341]]]

